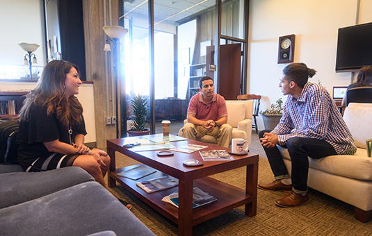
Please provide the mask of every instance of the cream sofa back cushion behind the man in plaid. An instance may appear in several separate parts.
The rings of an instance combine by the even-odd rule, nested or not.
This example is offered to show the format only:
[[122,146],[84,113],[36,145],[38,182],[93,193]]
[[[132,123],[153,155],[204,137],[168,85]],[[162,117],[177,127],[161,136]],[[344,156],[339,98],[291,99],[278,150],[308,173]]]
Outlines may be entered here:
[[[366,140],[372,138],[372,107],[350,103],[345,108],[343,120],[346,122],[358,148],[366,149]],[[358,105],[358,106],[356,106]]]

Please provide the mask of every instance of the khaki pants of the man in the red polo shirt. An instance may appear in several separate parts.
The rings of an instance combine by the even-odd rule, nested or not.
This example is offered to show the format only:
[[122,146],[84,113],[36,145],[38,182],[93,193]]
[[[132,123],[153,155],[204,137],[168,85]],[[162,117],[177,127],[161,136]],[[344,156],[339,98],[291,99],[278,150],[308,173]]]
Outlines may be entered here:
[[189,140],[200,139],[204,135],[216,137],[217,145],[228,149],[232,141],[232,126],[223,124],[220,127],[215,127],[212,132],[208,132],[203,126],[195,126],[195,124],[187,123],[180,130],[180,136],[186,137]]

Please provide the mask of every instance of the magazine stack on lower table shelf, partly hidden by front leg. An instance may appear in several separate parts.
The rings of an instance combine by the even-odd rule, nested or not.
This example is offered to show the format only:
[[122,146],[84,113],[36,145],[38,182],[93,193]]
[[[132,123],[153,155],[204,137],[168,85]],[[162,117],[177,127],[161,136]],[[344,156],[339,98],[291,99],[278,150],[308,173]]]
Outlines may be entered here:
[[[178,208],[179,205],[178,190],[168,196],[164,196],[163,199],[161,199],[161,201],[163,201],[164,203],[170,203],[174,205],[176,208]],[[217,201],[217,199],[215,199],[207,192],[203,192],[202,189],[198,187],[193,188],[193,208],[197,208],[202,205],[212,203],[213,201]]]

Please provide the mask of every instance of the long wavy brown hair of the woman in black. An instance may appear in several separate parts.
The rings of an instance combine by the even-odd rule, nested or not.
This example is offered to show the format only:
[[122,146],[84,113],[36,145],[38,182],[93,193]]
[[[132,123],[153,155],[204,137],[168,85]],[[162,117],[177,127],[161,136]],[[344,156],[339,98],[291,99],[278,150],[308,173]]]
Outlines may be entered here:
[[80,124],[83,115],[83,106],[76,98],[67,98],[65,92],[66,74],[74,67],[80,76],[77,65],[63,60],[49,62],[36,85],[35,89],[26,95],[22,109],[19,112],[19,121],[28,120],[32,104],[47,106],[48,116],[56,114],[57,119],[64,128]]

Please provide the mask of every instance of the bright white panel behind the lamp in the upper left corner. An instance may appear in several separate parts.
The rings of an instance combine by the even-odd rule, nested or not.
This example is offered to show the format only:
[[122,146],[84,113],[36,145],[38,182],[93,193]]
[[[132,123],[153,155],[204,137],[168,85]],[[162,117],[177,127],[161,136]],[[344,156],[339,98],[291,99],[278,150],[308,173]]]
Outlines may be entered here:
[[39,44],[38,65],[46,65],[42,0],[0,0],[0,64],[23,65],[26,54],[18,43]]

